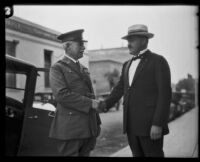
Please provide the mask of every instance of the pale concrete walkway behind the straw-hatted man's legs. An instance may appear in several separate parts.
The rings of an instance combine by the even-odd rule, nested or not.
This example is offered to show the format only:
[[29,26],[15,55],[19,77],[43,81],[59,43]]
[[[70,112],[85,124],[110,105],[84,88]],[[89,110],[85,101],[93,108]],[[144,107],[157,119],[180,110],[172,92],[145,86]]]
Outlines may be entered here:
[[[170,133],[164,138],[165,157],[198,157],[198,108],[169,123]],[[129,146],[111,157],[132,157]]]

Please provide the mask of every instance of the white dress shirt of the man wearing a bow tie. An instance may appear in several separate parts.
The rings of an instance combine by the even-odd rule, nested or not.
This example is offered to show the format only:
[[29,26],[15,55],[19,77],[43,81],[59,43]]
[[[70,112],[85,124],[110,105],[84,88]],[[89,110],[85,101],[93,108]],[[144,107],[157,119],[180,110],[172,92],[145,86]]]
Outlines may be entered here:
[[[145,53],[148,49],[144,49],[142,51],[140,51],[140,53],[138,55],[141,55],[143,53]],[[132,61],[130,67],[129,67],[129,72],[128,72],[128,76],[129,76],[129,86],[131,86],[132,81],[133,81],[133,77],[135,75],[135,71],[137,69],[138,64],[140,63],[141,59],[137,59]]]

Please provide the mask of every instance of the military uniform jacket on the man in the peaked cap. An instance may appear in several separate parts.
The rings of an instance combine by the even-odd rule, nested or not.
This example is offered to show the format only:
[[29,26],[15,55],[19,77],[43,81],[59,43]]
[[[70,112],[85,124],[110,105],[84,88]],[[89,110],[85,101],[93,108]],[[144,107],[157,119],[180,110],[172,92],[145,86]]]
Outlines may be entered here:
[[50,85],[57,101],[49,137],[70,140],[98,136],[101,120],[92,109],[94,92],[88,69],[64,57],[50,69]]

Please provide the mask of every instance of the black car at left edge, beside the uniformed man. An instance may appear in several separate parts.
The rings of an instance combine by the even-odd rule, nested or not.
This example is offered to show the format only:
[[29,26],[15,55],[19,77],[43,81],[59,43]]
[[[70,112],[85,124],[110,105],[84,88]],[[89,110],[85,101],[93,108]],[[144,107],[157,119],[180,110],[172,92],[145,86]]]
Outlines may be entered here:
[[38,69],[6,55],[6,156],[58,155],[55,141],[48,137],[54,110],[33,107]]

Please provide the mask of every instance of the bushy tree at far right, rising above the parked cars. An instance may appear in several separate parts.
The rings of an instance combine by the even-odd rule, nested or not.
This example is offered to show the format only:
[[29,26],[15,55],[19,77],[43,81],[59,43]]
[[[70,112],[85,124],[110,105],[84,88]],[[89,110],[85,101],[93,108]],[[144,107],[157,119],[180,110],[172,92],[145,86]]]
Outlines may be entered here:
[[176,91],[180,92],[183,89],[185,89],[186,92],[194,93],[194,91],[195,91],[195,80],[193,79],[191,74],[188,74],[187,78],[181,79],[176,84]]

